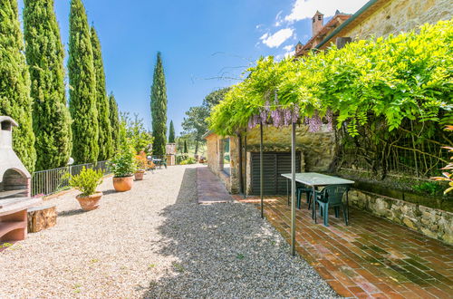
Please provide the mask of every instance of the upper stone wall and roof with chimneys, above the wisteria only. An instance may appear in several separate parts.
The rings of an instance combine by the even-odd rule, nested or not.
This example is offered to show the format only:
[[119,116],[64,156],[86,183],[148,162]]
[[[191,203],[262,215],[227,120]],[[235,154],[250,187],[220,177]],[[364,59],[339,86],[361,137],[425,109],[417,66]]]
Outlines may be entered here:
[[451,0],[371,0],[355,14],[337,11],[325,25],[323,14],[316,12],[313,37],[304,45],[297,43],[294,56],[303,56],[312,49],[325,50],[332,44],[341,48],[353,40],[407,32],[421,24],[448,20],[452,12]]

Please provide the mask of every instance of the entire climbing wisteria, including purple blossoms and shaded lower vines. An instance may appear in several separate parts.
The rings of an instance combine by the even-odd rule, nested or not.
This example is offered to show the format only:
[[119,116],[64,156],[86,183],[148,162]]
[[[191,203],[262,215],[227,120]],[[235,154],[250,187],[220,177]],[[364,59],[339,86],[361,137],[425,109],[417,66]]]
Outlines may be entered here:
[[418,32],[349,43],[297,61],[261,58],[214,108],[210,129],[230,135],[260,123],[304,123],[312,131],[334,124],[355,149],[361,147],[354,139],[371,136],[361,154],[373,153],[376,172],[385,175],[389,165],[379,161],[400,147],[412,160],[405,154],[393,162],[427,175],[445,160],[435,145],[451,142],[436,128],[453,119],[452,24],[426,24]]

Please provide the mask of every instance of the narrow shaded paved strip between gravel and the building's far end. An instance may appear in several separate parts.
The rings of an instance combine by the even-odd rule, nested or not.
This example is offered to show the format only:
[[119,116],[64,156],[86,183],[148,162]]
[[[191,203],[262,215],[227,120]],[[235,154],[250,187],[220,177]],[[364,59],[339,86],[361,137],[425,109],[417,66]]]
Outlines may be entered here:
[[224,184],[206,166],[198,167],[197,178],[199,204],[233,201]]

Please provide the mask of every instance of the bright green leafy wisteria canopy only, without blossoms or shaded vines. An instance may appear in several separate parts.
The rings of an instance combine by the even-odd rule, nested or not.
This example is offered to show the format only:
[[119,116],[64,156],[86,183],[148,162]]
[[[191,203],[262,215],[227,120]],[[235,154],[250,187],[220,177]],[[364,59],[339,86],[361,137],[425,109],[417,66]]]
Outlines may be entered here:
[[352,136],[371,117],[381,117],[387,131],[402,121],[451,121],[452,24],[425,24],[419,33],[349,43],[298,61],[262,58],[214,108],[210,128],[230,135],[246,127],[275,91],[280,107],[298,107],[301,117],[333,111],[338,128]]

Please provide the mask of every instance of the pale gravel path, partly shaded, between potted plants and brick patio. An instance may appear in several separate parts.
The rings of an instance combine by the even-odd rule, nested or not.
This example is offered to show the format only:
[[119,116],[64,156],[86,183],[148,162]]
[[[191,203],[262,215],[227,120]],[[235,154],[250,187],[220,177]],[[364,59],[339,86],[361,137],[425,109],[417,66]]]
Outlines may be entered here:
[[0,253],[0,297],[333,297],[250,204],[198,205],[196,169],[147,174]]

